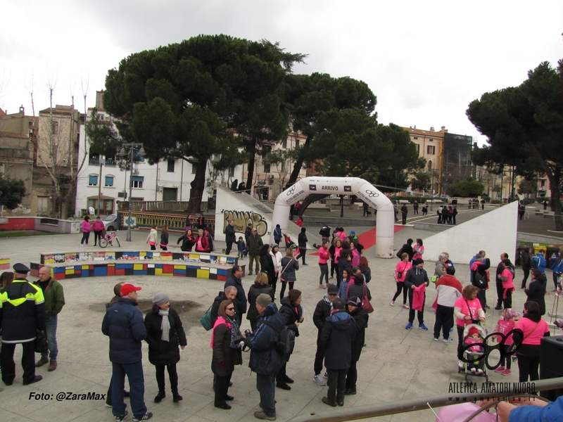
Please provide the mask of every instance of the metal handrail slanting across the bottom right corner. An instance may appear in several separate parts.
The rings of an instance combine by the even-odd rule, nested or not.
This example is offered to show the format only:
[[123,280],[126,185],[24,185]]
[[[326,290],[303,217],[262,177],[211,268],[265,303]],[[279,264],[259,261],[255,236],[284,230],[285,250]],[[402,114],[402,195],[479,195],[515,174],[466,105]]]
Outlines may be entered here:
[[[485,383],[486,384],[486,383]],[[430,397],[418,397],[415,399],[400,400],[398,402],[386,402],[369,404],[367,406],[349,407],[347,409],[334,409],[321,414],[309,414],[291,418],[289,422],[337,422],[355,421],[356,419],[373,418],[375,416],[386,416],[429,409],[429,406],[443,407],[451,404],[474,402],[477,400],[501,399],[527,395],[533,387],[535,391],[554,390],[563,388],[562,378],[550,378],[533,383],[493,383],[502,384],[502,392],[468,392],[463,394],[443,394]]]

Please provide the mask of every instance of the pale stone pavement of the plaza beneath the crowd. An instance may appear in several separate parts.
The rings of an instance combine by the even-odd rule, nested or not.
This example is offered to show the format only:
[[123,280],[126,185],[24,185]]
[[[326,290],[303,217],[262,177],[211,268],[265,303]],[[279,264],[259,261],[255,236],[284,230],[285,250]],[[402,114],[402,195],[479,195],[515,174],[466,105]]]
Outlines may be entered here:
[[[345,227],[346,231],[355,229],[359,234],[369,227]],[[311,231],[316,233],[317,228]],[[125,231],[119,232],[125,243]],[[132,246],[147,250],[146,232],[132,233]],[[396,234],[396,249],[406,238],[429,236],[428,232],[405,227]],[[0,239],[0,255],[11,258],[11,263],[39,259],[39,252],[64,252],[80,248],[80,234],[56,236],[31,236],[25,238]],[[175,243],[172,236],[171,243]],[[222,244],[217,242],[217,248]],[[127,244],[127,243],[125,243]],[[124,245],[125,246],[125,245]],[[126,247],[129,247],[127,245]],[[483,244],[486,249],[486,243]],[[89,249],[94,250],[91,246]],[[510,253],[511,251],[509,251]],[[393,269],[396,259],[380,260],[374,257],[374,248],[365,252],[372,269],[372,290],[375,312],[370,315],[369,328],[366,331],[367,347],[358,362],[358,394],[347,396],[345,407],[361,406],[377,402],[391,402],[400,399],[440,395],[448,393],[449,383],[462,381],[457,373],[455,357],[456,342],[434,342],[431,332],[434,326],[434,312],[429,306],[434,302],[435,290],[429,288],[426,300],[425,323],[429,331],[415,327],[407,331],[407,309],[396,305],[389,306],[389,301],[396,290],[393,281]],[[497,264],[492,257],[493,265]],[[305,321],[300,326],[301,336],[296,339],[296,350],[288,363],[288,375],[295,380],[291,391],[276,390],[277,420],[286,421],[293,416],[330,412],[331,407],[323,404],[321,398],[326,395],[327,387],[320,387],[312,381],[312,364],[315,357],[316,328],[312,324],[312,312],[316,303],[326,293],[318,288],[320,274],[317,257],[308,255],[308,266],[301,267],[297,273],[296,288],[303,292]],[[469,283],[469,267],[456,265],[456,276],[464,285]],[[434,262],[426,263],[429,275],[434,272]],[[548,274],[550,279],[551,274]],[[517,270],[515,284],[519,284],[521,271]],[[88,279],[70,279],[63,281],[66,305],[58,320],[58,368],[47,372],[47,365],[37,369],[37,374],[44,379],[29,386],[21,384],[21,366],[16,364],[16,378],[11,386],[1,385],[0,420],[11,421],[111,421],[113,416],[103,401],[58,402],[56,399],[30,399],[30,393],[46,393],[56,396],[58,392],[105,394],[111,376],[108,361],[108,338],[101,333],[101,321],[105,312],[104,303],[113,296],[113,286],[120,281],[142,286],[139,292],[140,308],[146,312],[150,299],[159,291],[170,295],[172,307],[181,314],[188,347],[182,352],[178,364],[179,390],[184,400],[173,403],[170,395],[160,404],[153,403],[158,392],[154,367],[148,362],[147,345],[143,345],[143,363],[145,373],[145,401],[148,411],[154,414],[154,421],[254,421],[253,412],[258,409],[259,396],[255,388],[255,374],[248,369],[248,354],[243,356],[243,365],[237,366],[232,381],[234,386],[229,394],[235,397],[232,409],[224,411],[213,406],[211,388],[211,350],[210,333],[199,324],[201,315],[213,302],[222,282],[201,279],[184,279],[165,276],[116,276]],[[244,288],[253,283],[253,276],[243,279]],[[279,288],[278,288],[279,290]],[[488,290],[489,303],[494,305],[493,289]],[[518,289],[514,295],[514,307],[522,309],[525,295]],[[400,301],[398,301],[400,302]],[[552,308],[553,296],[546,296],[546,306]],[[494,328],[498,319],[496,311],[491,312],[489,329]],[[243,320],[242,328],[249,328]],[[454,333],[454,338],[457,340]],[[15,360],[20,359],[20,347],[16,349]],[[491,373],[493,382],[517,381],[517,365],[513,366],[510,376]],[[128,399],[125,399],[128,402]],[[130,421],[131,416],[128,420]],[[430,410],[415,413],[382,416],[382,421],[434,421],[436,417]]]

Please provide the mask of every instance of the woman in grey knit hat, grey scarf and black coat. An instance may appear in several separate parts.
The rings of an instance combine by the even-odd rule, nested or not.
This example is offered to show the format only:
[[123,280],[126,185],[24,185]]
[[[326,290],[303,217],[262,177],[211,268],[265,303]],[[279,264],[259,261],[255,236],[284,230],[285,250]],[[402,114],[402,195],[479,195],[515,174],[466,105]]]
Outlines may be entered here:
[[180,360],[178,345],[184,347],[188,344],[186,334],[182,327],[182,320],[178,313],[170,307],[170,298],[166,293],[156,293],[153,298],[153,310],[145,317],[146,343],[148,343],[148,362],[156,366],[156,383],[158,395],[155,403],[160,403],[165,393],[164,369],[170,378],[172,401],[179,402],[182,396],[178,394],[178,373],[176,364]]

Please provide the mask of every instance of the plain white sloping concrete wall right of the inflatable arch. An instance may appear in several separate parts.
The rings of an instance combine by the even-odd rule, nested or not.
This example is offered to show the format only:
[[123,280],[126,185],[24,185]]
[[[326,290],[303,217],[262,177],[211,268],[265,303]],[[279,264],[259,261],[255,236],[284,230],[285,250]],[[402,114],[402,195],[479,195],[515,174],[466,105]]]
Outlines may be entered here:
[[448,252],[455,264],[468,264],[479,250],[484,250],[491,262],[498,262],[507,252],[514,262],[518,225],[518,203],[513,202],[497,210],[464,222],[451,229],[423,238],[424,260],[437,261],[441,252]]

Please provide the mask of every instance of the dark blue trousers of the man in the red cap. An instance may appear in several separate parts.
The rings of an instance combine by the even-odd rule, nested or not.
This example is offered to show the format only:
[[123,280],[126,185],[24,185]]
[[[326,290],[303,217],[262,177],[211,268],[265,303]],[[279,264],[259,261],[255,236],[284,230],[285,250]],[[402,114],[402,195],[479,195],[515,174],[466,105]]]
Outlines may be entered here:
[[116,364],[113,362],[112,365],[111,402],[113,404],[113,416],[122,416],[125,414],[125,402],[123,401],[125,374],[127,374],[127,378],[129,379],[129,397],[131,398],[131,411],[133,412],[133,416],[143,416],[146,414],[143,362],[139,361],[132,364]]

